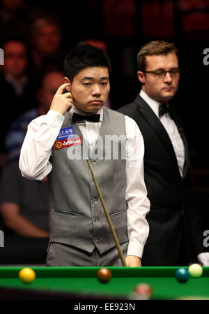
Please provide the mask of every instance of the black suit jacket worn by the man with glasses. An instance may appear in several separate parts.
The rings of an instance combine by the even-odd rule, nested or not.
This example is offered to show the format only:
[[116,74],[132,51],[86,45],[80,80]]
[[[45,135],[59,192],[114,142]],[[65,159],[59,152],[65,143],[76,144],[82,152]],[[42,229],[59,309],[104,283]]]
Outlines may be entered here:
[[[201,219],[189,187],[189,154],[180,117],[173,117],[185,145],[185,165],[180,176],[173,145],[160,119],[140,96],[118,110],[134,119],[144,137],[144,180],[150,200],[150,233],[142,265],[176,265],[183,240],[194,255],[204,251]],[[190,245],[191,244],[191,245]],[[188,252],[187,252],[188,253]]]

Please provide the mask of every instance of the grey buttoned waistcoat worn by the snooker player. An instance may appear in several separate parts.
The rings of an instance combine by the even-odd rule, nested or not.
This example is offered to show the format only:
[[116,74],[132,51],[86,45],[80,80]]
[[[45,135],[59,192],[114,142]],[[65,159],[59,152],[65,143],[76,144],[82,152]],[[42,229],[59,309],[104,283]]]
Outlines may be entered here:
[[[55,150],[52,148],[52,171],[49,174],[51,215],[50,242],[73,245],[87,252],[98,248],[100,254],[114,247],[114,238],[109,229],[98,192],[88,169],[86,157],[69,159],[72,152],[83,152],[87,148],[87,158],[91,162],[95,178],[104,198],[111,222],[118,236],[119,243],[128,241],[127,238],[127,203],[125,201],[125,159],[121,158],[121,145],[125,145],[125,117],[114,110],[103,108],[104,116],[100,127],[103,143],[103,159],[91,157],[88,144],[85,143],[77,124],[72,123],[70,114],[65,115],[61,129],[73,127],[75,135],[80,136],[82,145],[65,147]],[[109,150],[109,158],[104,159],[105,135],[121,136],[119,141],[119,159],[113,157],[113,147]],[[124,139],[125,138],[125,139]],[[99,142],[99,141],[98,141]],[[101,157],[101,155],[100,155]]]

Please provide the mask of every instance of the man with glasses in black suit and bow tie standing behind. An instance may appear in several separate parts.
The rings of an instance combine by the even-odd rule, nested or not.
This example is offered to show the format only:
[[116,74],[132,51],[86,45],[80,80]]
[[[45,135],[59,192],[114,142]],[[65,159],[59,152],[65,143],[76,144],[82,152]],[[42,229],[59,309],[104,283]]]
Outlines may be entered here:
[[200,262],[209,266],[201,219],[189,187],[187,140],[180,117],[169,106],[178,91],[178,50],[172,43],[152,41],[141,48],[137,63],[141,92],[132,104],[118,111],[137,122],[145,143],[150,234],[141,264],[175,266]]

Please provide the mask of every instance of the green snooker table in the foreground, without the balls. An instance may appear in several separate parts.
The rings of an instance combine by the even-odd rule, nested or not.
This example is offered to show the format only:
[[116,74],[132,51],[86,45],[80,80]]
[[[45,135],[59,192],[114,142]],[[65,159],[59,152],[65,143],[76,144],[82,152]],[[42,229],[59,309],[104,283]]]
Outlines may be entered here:
[[[151,299],[209,299],[209,267],[203,267],[201,278],[176,280],[180,267],[141,268],[107,267],[112,278],[100,283],[96,277],[101,267],[33,267],[36,279],[22,283],[18,273],[22,267],[0,267],[0,299],[136,299],[132,290],[138,283],[153,288]],[[188,268],[188,267],[185,267]]]

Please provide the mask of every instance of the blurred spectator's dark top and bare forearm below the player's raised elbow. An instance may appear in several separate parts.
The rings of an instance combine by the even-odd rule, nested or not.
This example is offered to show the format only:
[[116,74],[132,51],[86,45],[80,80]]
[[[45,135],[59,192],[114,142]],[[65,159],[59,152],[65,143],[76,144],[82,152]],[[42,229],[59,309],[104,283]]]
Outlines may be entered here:
[[49,197],[47,180],[22,177],[18,162],[3,169],[0,210],[5,235],[48,237]]

